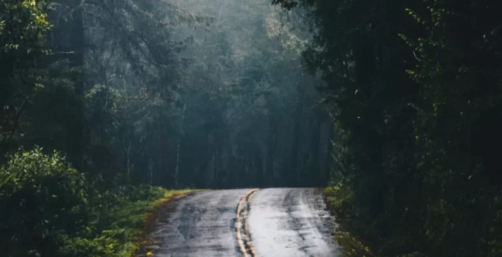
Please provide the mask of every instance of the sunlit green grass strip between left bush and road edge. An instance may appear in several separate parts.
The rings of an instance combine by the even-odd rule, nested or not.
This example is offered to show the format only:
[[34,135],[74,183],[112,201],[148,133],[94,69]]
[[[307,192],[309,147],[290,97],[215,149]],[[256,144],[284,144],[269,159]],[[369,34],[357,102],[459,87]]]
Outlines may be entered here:
[[192,190],[166,190],[160,187],[130,188],[133,192],[113,205],[96,211],[89,223],[92,236],[67,238],[64,253],[72,256],[129,257],[145,240],[145,230],[155,222],[156,209],[175,195]]

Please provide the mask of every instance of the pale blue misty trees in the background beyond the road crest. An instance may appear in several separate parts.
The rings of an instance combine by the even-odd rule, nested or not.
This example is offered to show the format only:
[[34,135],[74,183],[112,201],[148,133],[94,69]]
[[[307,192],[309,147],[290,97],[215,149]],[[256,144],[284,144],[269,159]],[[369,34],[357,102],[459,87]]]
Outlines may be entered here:
[[302,157],[290,167],[294,155],[314,152],[310,140],[298,139],[292,153],[291,139],[321,129],[299,122],[316,113],[308,105],[318,97],[315,78],[302,75],[306,41],[260,3],[174,3],[118,1],[118,11],[86,3],[89,173],[117,183],[219,188],[272,185],[281,170],[275,176],[303,183],[307,167],[325,159]]

